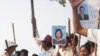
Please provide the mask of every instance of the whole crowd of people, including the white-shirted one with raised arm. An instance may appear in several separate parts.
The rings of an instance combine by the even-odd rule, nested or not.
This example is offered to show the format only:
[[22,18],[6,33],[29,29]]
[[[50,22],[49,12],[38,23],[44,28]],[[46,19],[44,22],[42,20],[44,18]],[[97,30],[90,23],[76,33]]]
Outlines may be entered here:
[[[74,18],[74,30],[83,36],[89,37],[88,42],[79,47],[79,36],[75,33],[68,34],[66,36],[65,45],[53,45],[52,36],[46,35],[44,40],[38,40],[34,38],[36,43],[39,45],[41,52],[32,56],[98,56],[100,49],[100,38],[99,30],[84,29],[78,19],[77,7],[83,2],[83,0],[69,0],[73,10]],[[100,11],[99,11],[100,19]],[[97,42],[98,41],[98,42]],[[8,42],[5,53],[2,56],[12,56],[16,50],[17,45],[13,42]],[[22,49],[16,51],[16,56],[28,56],[28,50]]]

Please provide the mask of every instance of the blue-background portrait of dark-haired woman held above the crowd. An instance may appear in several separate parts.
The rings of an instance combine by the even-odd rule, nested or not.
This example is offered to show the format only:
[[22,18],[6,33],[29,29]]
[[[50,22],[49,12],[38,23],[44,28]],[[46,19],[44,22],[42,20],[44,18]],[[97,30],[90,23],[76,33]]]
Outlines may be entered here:
[[65,26],[52,26],[52,43],[54,45],[64,45],[66,43]]

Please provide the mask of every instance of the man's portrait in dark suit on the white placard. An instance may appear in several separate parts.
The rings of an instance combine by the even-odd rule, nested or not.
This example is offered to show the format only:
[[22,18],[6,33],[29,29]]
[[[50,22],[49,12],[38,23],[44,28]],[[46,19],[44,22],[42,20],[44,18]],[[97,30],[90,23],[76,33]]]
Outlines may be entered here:
[[80,20],[89,20],[88,5],[82,4],[78,7],[78,18]]

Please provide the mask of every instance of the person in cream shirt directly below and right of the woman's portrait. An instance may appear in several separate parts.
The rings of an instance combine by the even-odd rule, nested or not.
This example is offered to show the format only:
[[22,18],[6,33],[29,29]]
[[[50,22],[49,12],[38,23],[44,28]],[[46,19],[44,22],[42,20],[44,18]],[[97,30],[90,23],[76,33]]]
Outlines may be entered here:
[[69,36],[66,37],[66,45],[59,47],[59,49],[55,51],[54,56],[73,56],[71,39]]

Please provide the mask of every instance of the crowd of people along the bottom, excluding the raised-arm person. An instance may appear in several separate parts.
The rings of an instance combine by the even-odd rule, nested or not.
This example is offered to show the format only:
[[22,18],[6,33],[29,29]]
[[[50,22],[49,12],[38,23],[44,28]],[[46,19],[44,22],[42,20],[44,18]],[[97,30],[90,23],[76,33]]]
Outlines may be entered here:
[[[95,56],[96,44],[88,41],[86,44],[78,47],[78,38],[74,33],[66,36],[65,45],[52,45],[52,37],[50,35],[47,35],[41,41],[34,38],[40,46],[41,52],[38,54],[34,53],[32,56]],[[28,56],[29,52],[26,49],[15,51],[17,46],[15,43],[8,41],[8,47],[2,56]],[[13,54],[14,51],[15,54]]]

